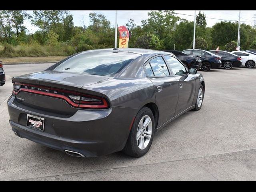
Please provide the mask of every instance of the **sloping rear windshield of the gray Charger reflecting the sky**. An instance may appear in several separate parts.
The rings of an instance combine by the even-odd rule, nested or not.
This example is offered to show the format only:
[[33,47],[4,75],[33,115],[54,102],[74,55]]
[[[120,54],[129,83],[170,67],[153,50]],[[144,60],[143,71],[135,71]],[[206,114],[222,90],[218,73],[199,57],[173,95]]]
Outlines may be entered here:
[[83,52],[62,62],[54,71],[114,76],[139,55],[127,52]]

